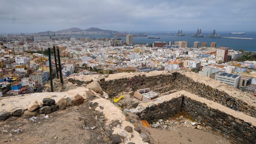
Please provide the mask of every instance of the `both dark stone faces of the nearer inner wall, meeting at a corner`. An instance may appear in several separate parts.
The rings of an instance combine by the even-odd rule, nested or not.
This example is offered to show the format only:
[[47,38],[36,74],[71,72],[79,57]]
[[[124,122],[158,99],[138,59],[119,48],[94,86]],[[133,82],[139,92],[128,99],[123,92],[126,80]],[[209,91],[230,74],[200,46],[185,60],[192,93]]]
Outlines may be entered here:
[[171,118],[179,111],[190,115],[195,121],[201,122],[205,127],[211,127],[213,131],[221,132],[225,138],[237,143],[256,143],[256,127],[249,122],[237,119],[232,115],[221,112],[218,109],[208,107],[207,104],[198,102],[182,95],[157,105],[151,105],[140,113],[136,113],[140,119],[149,123],[159,119]]

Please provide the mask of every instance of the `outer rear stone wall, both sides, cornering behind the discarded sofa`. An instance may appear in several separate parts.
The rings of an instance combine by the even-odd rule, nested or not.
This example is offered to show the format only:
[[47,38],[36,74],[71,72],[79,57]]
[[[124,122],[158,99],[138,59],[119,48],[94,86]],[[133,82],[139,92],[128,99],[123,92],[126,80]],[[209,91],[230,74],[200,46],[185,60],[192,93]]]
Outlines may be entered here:
[[[109,95],[110,98],[113,98],[114,96],[118,95],[123,91],[125,92],[132,91],[132,93],[130,93],[130,95],[132,96],[134,94],[134,91],[142,88],[150,88],[150,90],[153,90],[159,93],[165,93],[173,89],[186,90],[192,94],[198,95],[200,97],[204,97],[213,102],[222,104],[223,106],[226,106],[226,107],[229,107],[226,104],[227,99],[233,100],[234,102],[230,101],[230,103],[231,103],[231,106],[233,104],[234,106],[229,108],[232,108],[237,111],[242,111],[243,113],[256,118],[256,106],[253,103],[255,99],[245,96],[246,93],[240,93],[238,89],[230,87],[229,91],[234,90],[235,92],[240,93],[239,96],[237,97],[241,97],[241,99],[238,99],[236,97],[236,95],[238,94],[235,92],[234,92],[234,95],[231,95],[232,92],[231,93],[229,92],[229,94],[226,93],[225,88],[223,88],[225,87],[225,85],[217,86],[217,88],[216,87],[213,88],[209,85],[206,85],[205,83],[209,84],[211,83],[211,81],[213,81],[214,83],[217,83],[217,82],[213,79],[209,79],[207,77],[203,77],[195,73],[188,73],[184,71],[171,71],[171,72],[161,71],[162,73],[159,74],[159,71],[157,72],[158,73],[156,73],[156,75],[133,73],[127,77],[117,77],[116,79],[111,79],[111,80],[106,80],[103,76],[98,76],[97,79],[99,80],[99,83],[102,89]],[[191,76],[191,74],[193,76]],[[194,77],[194,79],[192,77]],[[195,78],[198,79],[200,77],[203,77],[204,79],[204,81],[201,81],[201,83],[195,80]],[[88,84],[93,80],[84,79],[80,81],[79,80],[72,80],[72,81],[73,81],[72,83],[77,83],[78,85],[82,85],[83,83]],[[222,89],[219,90],[218,88],[220,89],[222,88]],[[243,97],[248,97],[248,99],[242,100]]]

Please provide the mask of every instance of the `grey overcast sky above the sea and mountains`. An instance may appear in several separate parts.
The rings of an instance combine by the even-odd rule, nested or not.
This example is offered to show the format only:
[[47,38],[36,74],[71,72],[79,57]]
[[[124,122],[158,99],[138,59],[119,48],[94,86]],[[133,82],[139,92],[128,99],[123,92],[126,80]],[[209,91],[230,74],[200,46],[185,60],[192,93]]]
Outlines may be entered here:
[[256,31],[256,0],[0,0],[0,33]]

